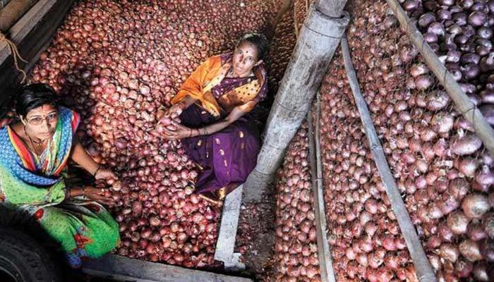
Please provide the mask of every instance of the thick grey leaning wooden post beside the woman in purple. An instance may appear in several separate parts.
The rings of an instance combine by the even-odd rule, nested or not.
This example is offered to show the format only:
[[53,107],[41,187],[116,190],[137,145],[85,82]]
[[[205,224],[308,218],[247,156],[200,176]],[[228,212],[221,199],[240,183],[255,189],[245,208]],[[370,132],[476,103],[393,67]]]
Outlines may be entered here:
[[332,18],[318,11],[314,5],[309,9],[267,118],[258,165],[244,185],[246,202],[259,201],[273,180],[291,138],[306,117],[348,23],[348,13],[341,18]]

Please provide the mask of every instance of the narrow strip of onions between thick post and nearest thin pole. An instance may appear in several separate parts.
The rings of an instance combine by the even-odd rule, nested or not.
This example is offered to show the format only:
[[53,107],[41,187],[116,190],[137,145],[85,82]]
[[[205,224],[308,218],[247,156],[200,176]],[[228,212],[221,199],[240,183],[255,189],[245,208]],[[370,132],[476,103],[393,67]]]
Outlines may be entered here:
[[307,127],[301,126],[277,171],[276,281],[320,281]]

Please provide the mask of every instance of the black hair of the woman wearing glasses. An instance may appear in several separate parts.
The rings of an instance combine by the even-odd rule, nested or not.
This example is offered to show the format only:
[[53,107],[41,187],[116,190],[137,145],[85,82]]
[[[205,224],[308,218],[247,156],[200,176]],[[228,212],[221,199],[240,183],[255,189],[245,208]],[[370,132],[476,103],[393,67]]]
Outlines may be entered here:
[[57,106],[56,92],[47,84],[34,83],[22,87],[16,99],[16,113],[26,116],[32,109],[43,105]]

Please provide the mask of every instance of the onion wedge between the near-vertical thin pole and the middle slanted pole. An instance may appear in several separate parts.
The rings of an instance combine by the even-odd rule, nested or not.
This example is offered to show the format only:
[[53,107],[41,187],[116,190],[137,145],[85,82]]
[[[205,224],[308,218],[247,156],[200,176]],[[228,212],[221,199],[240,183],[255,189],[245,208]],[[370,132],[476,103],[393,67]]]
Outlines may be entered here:
[[417,281],[370,154],[340,51],[320,93],[325,209],[337,280]]

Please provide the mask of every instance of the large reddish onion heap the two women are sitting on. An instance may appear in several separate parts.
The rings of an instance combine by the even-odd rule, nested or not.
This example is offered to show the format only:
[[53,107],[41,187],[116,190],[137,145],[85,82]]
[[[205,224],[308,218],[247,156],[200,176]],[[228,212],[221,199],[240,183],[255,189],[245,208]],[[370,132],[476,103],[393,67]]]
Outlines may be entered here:
[[81,114],[78,137],[119,175],[107,183],[119,255],[214,264],[220,209],[193,195],[199,170],[180,142],[159,137],[157,112],[207,56],[269,25],[272,10],[268,1],[78,1],[41,54],[30,82],[52,85]]

